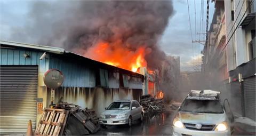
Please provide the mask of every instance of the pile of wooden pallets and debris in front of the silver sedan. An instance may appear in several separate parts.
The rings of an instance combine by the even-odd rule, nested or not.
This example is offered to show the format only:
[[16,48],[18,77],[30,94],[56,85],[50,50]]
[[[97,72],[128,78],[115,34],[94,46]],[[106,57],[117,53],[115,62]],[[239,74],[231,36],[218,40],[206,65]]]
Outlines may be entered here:
[[44,109],[35,135],[88,135],[99,131],[98,119],[92,109],[61,103]]

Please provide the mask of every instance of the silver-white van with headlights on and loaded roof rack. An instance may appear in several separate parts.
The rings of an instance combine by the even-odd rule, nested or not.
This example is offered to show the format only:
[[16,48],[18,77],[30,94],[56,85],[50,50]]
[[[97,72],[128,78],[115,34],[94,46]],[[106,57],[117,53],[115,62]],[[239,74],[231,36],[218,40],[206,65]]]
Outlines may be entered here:
[[220,92],[191,90],[173,119],[173,135],[231,135],[234,116]]

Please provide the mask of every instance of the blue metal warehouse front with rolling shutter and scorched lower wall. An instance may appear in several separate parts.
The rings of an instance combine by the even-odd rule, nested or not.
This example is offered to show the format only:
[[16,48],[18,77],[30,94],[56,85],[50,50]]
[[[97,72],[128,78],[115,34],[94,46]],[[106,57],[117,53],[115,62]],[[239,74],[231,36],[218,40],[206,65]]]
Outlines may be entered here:
[[[43,108],[51,104],[51,89],[43,82],[49,69],[64,75],[55,90],[54,103],[68,102],[93,108],[98,114],[110,102],[139,100],[144,76],[50,46],[0,41],[0,133],[26,133],[29,119],[33,130]],[[45,55],[44,55],[45,54]]]

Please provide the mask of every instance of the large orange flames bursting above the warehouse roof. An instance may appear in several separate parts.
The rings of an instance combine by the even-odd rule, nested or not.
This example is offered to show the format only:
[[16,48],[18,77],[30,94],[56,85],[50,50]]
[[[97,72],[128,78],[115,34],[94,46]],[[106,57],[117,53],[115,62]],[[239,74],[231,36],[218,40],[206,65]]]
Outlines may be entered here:
[[126,46],[119,45],[118,42],[114,44],[101,42],[87,50],[84,55],[108,65],[137,72],[139,67],[147,67],[144,59],[145,50],[143,46],[131,51]]

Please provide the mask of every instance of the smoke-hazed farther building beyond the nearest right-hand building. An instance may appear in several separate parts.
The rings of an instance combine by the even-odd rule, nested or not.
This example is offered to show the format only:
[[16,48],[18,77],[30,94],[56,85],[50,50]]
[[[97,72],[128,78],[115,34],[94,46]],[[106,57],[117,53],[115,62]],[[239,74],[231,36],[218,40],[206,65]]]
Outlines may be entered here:
[[207,34],[202,53],[202,72],[208,80],[209,87],[221,84],[228,80],[226,50],[223,50],[226,42],[226,20],[224,1],[215,3],[212,23]]

